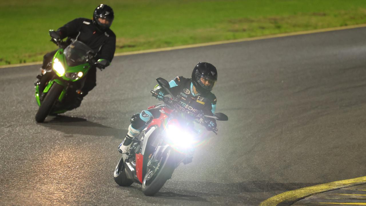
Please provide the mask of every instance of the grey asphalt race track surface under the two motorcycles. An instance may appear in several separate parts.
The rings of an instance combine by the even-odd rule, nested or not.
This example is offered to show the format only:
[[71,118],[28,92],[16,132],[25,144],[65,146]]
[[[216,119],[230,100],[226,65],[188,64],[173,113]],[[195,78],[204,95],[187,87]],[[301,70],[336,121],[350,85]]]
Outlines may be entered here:
[[[259,205],[365,176],[366,28],[119,56],[81,107],[37,124],[39,65],[0,69],[0,205]],[[45,40],[45,43],[47,40]],[[51,44],[51,43],[49,43]],[[229,121],[154,197],[113,180],[130,117],[155,78],[218,69]]]

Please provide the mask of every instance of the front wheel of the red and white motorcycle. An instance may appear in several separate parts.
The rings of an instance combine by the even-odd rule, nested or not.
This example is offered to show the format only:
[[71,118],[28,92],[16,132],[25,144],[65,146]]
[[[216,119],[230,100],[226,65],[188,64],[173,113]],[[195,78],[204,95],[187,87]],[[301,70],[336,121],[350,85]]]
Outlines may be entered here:
[[147,196],[156,194],[171,178],[175,169],[175,159],[173,151],[165,150],[157,162],[151,162],[147,166],[145,177],[142,181],[142,192]]

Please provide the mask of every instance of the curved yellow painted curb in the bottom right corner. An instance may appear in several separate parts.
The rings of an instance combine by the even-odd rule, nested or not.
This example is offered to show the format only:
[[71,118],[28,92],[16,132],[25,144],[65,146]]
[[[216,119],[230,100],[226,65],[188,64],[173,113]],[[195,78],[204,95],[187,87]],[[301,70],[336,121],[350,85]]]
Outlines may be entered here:
[[348,180],[340,180],[320,185],[314,185],[310,187],[304,187],[298,190],[292,190],[273,196],[272,198],[266,199],[265,201],[261,202],[259,206],[276,206],[279,205],[280,203],[281,205],[292,205],[296,201],[299,201],[300,199],[303,199],[313,194],[326,192],[330,190],[336,190],[344,187],[350,187],[353,185],[363,183],[366,183],[366,176]]

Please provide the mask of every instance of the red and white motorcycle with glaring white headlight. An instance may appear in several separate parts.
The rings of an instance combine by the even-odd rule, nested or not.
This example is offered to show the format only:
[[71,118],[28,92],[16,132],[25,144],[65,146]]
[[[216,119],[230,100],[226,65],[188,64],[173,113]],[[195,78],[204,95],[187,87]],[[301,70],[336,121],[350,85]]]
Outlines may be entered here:
[[[173,97],[168,81],[163,78],[156,80]],[[153,96],[158,95],[154,91],[151,93]],[[128,154],[122,154],[114,172],[117,184],[142,184],[142,192],[148,196],[156,194],[163,187],[180,163],[191,161],[193,147],[199,142],[198,132],[192,127],[193,121],[207,126],[210,119],[228,120],[223,113],[193,117],[175,106],[177,100],[164,97],[163,102],[165,104],[161,106],[160,117],[153,119],[141,132],[141,139],[137,137],[132,140]],[[212,131],[217,134],[216,128]]]

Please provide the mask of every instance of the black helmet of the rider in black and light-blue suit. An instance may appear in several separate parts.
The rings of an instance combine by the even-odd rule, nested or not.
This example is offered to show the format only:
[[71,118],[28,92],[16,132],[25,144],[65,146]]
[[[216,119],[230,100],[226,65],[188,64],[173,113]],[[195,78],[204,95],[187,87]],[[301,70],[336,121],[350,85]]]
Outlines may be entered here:
[[192,83],[199,93],[205,94],[212,90],[217,81],[217,70],[212,64],[199,62],[192,72]]

